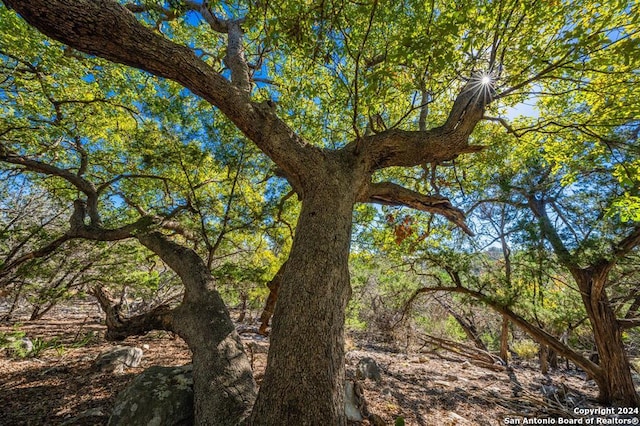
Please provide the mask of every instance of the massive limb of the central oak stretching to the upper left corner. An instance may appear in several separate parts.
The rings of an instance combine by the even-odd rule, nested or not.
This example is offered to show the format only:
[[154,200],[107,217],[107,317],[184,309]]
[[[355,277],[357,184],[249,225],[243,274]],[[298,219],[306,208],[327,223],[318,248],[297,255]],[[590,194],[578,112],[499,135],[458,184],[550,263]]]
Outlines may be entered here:
[[[80,51],[176,81],[220,110],[280,166],[287,178],[321,161],[313,148],[276,114],[249,102],[243,84],[229,82],[187,46],[138,22],[113,0],[3,0],[44,34]],[[239,25],[239,24],[238,24]]]

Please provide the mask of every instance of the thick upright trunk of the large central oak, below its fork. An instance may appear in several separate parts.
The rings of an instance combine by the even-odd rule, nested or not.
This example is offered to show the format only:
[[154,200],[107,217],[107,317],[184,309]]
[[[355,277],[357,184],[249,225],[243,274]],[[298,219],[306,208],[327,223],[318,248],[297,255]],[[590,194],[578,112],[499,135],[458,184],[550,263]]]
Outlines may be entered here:
[[338,175],[318,176],[303,197],[253,425],[346,424],[344,318],[355,195],[351,179]]

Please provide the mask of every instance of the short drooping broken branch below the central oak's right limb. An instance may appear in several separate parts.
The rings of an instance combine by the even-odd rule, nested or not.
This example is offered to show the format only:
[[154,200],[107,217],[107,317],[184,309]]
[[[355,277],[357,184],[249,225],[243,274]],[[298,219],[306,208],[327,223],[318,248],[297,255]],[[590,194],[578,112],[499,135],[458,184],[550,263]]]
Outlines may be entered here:
[[464,213],[453,207],[451,202],[444,197],[424,195],[395,183],[380,182],[370,184],[368,192],[358,201],[388,206],[407,206],[416,210],[439,214],[462,228],[467,234],[473,235],[473,232],[464,222]]

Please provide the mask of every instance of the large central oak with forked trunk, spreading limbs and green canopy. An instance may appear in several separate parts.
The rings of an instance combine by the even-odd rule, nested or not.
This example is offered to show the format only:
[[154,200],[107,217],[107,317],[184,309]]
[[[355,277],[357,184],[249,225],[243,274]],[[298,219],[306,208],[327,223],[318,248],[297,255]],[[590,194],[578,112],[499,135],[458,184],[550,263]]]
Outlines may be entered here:
[[[4,3],[49,37],[208,101],[297,193],[301,212],[252,424],[345,424],[356,203],[407,205],[464,228],[437,187],[410,190],[403,175],[478,151],[474,129],[485,119],[504,124],[500,108],[543,83],[561,82],[551,94],[571,102],[590,75],[624,75],[628,85],[637,78],[624,60],[638,42],[633,2]],[[196,380],[197,421],[224,423],[205,382]]]

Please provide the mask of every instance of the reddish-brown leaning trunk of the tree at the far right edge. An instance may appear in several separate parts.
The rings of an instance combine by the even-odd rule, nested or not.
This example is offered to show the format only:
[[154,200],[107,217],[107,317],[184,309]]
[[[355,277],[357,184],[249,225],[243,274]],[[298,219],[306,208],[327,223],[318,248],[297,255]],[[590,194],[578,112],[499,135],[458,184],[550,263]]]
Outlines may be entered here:
[[600,374],[593,377],[598,385],[598,399],[603,403],[637,407],[629,360],[622,341],[622,329],[604,290],[607,272],[597,268],[574,272],[587,310],[598,350]]

